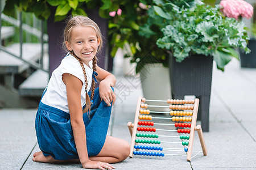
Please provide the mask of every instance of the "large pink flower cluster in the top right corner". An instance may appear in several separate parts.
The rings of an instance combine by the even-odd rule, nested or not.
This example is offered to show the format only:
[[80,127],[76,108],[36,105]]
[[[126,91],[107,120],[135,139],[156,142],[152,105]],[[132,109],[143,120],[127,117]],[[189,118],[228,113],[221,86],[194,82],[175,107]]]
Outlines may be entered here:
[[239,16],[250,19],[253,16],[253,6],[243,0],[222,0],[221,11],[229,18],[238,19]]

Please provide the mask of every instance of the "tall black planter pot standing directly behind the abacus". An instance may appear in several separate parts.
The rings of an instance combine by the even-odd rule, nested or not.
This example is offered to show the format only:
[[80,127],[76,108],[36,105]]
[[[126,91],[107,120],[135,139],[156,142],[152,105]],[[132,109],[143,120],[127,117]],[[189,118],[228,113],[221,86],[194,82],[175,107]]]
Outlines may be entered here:
[[197,120],[201,120],[204,131],[209,131],[213,57],[197,55],[182,62],[175,59],[171,55],[169,62],[172,98],[184,99],[186,95],[195,95],[200,100]]

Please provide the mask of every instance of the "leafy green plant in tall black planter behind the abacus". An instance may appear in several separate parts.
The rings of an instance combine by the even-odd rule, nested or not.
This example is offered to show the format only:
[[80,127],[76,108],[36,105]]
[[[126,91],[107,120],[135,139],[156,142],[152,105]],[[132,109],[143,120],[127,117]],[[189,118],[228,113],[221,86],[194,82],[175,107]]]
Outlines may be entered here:
[[166,18],[168,24],[156,44],[170,51],[172,96],[199,97],[199,119],[203,129],[209,131],[213,60],[217,68],[224,71],[232,57],[239,59],[237,48],[250,52],[246,46],[249,37],[245,25],[226,18],[219,5],[212,7],[201,1],[189,8],[171,3],[163,3],[160,8],[158,14]]

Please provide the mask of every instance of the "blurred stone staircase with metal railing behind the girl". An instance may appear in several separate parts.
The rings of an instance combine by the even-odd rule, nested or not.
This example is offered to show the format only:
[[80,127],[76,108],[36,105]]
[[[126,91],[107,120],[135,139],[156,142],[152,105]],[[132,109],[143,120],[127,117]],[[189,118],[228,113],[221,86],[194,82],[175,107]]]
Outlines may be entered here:
[[[21,18],[21,17],[20,17]],[[22,20],[1,14],[0,22],[11,22],[13,26],[2,26],[0,43],[0,108],[35,108],[49,80],[47,35],[38,37],[40,42],[20,42],[6,45],[16,34],[15,27],[22,32],[40,32]],[[42,25],[43,27],[43,25]],[[24,30],[25,29],[25,30]]]

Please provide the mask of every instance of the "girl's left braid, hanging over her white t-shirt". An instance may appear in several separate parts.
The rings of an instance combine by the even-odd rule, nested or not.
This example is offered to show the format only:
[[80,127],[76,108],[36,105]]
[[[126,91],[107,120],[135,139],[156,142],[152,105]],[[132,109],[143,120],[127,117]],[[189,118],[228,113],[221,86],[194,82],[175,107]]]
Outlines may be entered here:
[[[85,109],[82,111],[82,113],[86,113],[88,110],[90,112],[90,97],[87,93],[87,87],[88,87],[88,82],[87,82],[87,76],[86,76],[86,71],[85,71],[85,68],[84,68],[84,63],[82,62],[82,60],[76,56],[76,54],[72,51],[70,51],[70,53],[72,54],[72,56],[74,56],[80,63],[80,66],[82,67],[82,72],[84,73],[84,79],[85,79],[85,96],[86,96],[86,107]],[[88,113],[88,117],[89,117],[89,114]]]

